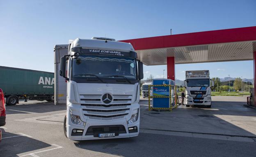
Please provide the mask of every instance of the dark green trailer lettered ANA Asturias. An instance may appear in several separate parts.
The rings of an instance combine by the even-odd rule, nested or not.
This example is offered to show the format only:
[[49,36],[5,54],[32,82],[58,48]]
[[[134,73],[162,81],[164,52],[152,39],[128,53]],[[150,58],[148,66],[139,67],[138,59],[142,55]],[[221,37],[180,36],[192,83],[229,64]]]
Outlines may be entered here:
[[20,98],[54,102],[54,73],[0,66],[0,88],[7,105]]

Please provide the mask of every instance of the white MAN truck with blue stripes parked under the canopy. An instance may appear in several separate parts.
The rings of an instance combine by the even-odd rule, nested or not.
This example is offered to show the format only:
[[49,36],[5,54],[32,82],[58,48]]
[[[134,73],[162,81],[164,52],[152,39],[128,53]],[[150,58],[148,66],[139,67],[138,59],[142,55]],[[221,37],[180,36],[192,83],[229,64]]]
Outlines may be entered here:
[[186,106],[189,107],[204,105],[211,107],[211,87],[214,86],[213,80],[210,80],[208,70],[186,71]]

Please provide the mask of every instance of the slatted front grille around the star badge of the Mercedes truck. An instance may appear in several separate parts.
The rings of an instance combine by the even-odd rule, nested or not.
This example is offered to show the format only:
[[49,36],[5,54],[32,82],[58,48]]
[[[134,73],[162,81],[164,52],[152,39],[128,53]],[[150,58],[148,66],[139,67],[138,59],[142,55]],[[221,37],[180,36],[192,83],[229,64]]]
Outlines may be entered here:
[[82,113],[89,119],[114,120],[129,114],[132,95],[113,95],[113,102],[105,105],[101,95],[80,95]]

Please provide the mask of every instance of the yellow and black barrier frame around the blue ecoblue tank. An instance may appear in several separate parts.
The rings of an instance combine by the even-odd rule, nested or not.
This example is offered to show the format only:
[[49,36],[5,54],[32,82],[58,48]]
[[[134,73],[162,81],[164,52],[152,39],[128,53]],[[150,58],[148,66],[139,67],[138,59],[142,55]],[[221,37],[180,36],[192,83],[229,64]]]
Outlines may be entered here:
[[[154,87],[154,86],[169,86],[169,96],[150,96],[150,89],[151,89],[151,87]],[[166,85],[149,85],[149,89],[148,89],[149,90],[149,111],[151,111],[153,109],[155,109],[155,110],[169,110],[169,111],[172,111],[172,105],[171,105],[171,86],[175,87],[174,95],[176,95],[177,86],[175,86],[175,85],[169,85],[169,84],[166,84]],[[158,108],[158,107],[151,107],[150,106],[150,98],[164,98],[164,97],[166,97],[166,98],[169,97],[169,101],[170,101],[170,107],[169,108]],[[177,106],[178,105],[177,105],[177,97],[176,97],[174,107],[177,108]]]

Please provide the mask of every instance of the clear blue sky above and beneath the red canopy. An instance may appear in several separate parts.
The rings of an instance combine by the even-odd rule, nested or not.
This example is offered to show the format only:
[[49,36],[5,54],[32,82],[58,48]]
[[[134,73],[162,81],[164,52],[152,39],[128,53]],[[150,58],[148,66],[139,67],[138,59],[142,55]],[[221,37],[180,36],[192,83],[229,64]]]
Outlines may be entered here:
[[[256,26],[255,0],[0,0],[0,66],[54,71],[55,44],[93,36],[125,40],[159,35]],[[210,70],[211,77],[253,78],[253,62],[176,65]],[[166,66],[145,66],[162,77]],[[165,72],[166,76],[166,72]]]

